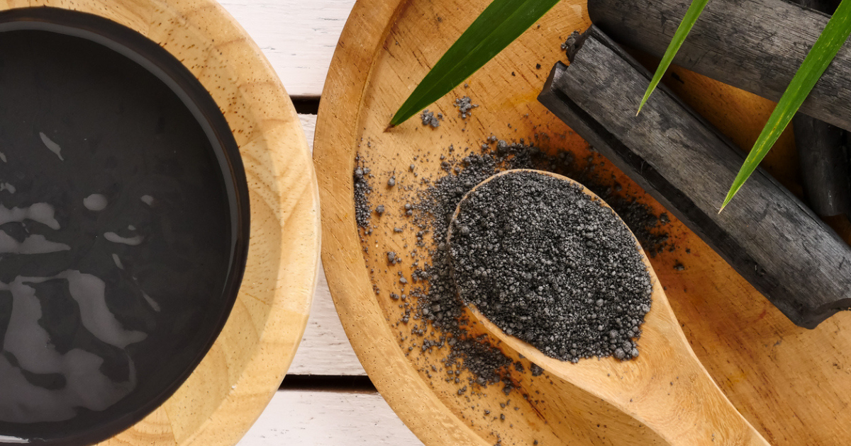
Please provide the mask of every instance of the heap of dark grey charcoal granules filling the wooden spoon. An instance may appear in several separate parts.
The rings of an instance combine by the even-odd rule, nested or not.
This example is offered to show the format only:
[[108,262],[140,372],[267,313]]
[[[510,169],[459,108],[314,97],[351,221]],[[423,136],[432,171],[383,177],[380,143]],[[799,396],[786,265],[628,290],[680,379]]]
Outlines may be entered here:
[[653,287],[620,218],[580,185],[509,172],[461,201],[450,257],[461,298],[563,361],[638,355]]

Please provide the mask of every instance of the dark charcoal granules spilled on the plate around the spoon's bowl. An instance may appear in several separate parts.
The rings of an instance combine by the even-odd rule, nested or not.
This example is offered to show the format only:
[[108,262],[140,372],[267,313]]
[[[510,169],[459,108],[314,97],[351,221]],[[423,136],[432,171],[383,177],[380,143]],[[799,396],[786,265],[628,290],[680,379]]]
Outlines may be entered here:
[[[511,371],[514,361],[501,353],[499,348],[493,347],[487,336],[472,336],[466,329],[464,304],[457,296],[445,244],[448,222],[455,206],[473,186],[505,169],[531,168],[560,173],[585,184],[585,187],[606,200],[630,227],[632,233],[636,234],[649,255],[663,251],[670,241],[668,235],[662,232],[659,217],[654,215],[649,206],[638,202],[627,192],[621,192],[621,188],[617,187],[608,173],[601,176],[600,172],[603,171],[592,168],[602,160],[600,155],[593,155],[597,160],[591,162],[591,158],[588,158],[588,162],[583,165],[568,151],[551,155],[523,142],[500,141],[496,135],[488,136],[484,143],[488,145],[479,153],[453,150],[452,146],[440,150],[439,157],[432,159],[432,162],[439,165],[445,161],[446,167],[437,175],[421,178],[422,186],[419,190],[405,198],[400,197],[400,201],[397,201],[408,205],[403,207],[403,212],[413,212],[408,218],[410,223],[417,227],[414,229],[417,234],[415,246],[419,250],[415,257],[412,251],[411,258],[416,263],[414,268],[419,282],[412,280],[414,284],[406,285],[407,291],[401,285],[399,289],[391,291],[401,298],[400,301],[394,302],[405,303],[398,314],[398,324],[407,326],[412,338],[417,336],[422,339],[421,344],[425,348],[421,351],[424,354],[432,349],[441,349],[443,353],[440,367],[459,374],[461,370],[469,372],[471,381],[464,381],[466,384],[488,387],[502,382],[503,390],[511,392],[514,387],[511,385],[510,376],[511,373],[517,373]],[[363,162],[367,160],[358,157],[356,161],[357,170],[357,167],[363,168]],[[427,162],[422,154],[414,155],[412,161]],[[454,167],[459,167],[460,172],[454,173]],[[367,177],[372,178],[372,175]],[[368,185],[365,181],[366,178],[364,184]],[[355,191],[357,209],[365,206],[368,216],[367,195],[359,194],[357,185]],[[364,246],[368,246],[368,235],[366,231],[362,239]],[[411,277],[413,279],[414,274]],[[424,311],[426,309],[427,312]],[[410,324],[412,322],[419,322],[420,325],[414,326]],[[431,325],[431,330],[426,330],[426,325]],[[437,332],[434,339],[439,341],[426,338],[428,332]],[[417,348],[417,351],[420,351],[420,348]],[[533,376],[543,373],[535,364],[530,364],[527,370],[530,370]],[[453,375],[452,379],[458,378]]]

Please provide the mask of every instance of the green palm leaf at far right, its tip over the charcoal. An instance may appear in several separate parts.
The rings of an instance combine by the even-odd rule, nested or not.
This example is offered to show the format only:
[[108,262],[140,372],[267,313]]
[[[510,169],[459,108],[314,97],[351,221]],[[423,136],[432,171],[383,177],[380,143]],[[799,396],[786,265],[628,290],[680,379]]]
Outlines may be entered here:
[[827,69],[827,65],[831,64],[831,60],[837,55],[839,48],[842,48],[842,44],[848,40],[849,34],[851,34],[851,0],[842,0],[831,20],[828,20],[825,30],[821,32],[813,48],[803,59],[801,67],[792,77],[789,87],[780,97],[780,102],[777,103],[771,116],[768,117],[768,122],[762,128],[762,133],[757,138],[757,142],[753,144],[751,153],[747,155],[745,163],[733,180],[733,185],[730,186],[727,197],[724,198],[721,210],[718,212],[724,210],[724,207],[729,204],[730,200],[733,200],[736,192],[739,192],[751,173],[757,170],[762,158],[765,158],[768,150],[771,149],[777,138],[780,138],[780,134],[789,125],[792,116],[795,116],[804,99],[807,99],[807,95],[813,89],[815,83],[819,82],[819,78]]

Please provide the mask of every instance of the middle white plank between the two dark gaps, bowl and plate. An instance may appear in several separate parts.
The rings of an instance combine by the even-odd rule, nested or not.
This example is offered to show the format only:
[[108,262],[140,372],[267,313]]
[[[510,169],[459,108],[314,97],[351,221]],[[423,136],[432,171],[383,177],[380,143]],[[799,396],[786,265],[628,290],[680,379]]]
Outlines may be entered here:
[[[308,144],[313,147],[313,130],[316,128],[316,115],[299,115],[301,127],[305,130]],[[288,375],[366,375],[349,338],[340,324],[325,271],[320,265],[317,291],[313,295],[311,317],[307,321],[305,336],[301,339],[299,351],[295,353]]]

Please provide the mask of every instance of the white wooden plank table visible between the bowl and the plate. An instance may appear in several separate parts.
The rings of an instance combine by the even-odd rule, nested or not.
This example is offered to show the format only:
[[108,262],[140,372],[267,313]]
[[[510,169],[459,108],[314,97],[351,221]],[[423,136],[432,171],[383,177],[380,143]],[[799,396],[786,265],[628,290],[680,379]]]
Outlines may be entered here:
[[[220,0],[263,49],[297,105],[315,110],[354,0]],[[300,110],[313,143],[316,115]],[[315,112],[315,111],[314,111]],[[366,378],[319,273],[311,318],[282,389],[240,446],[421,446]]]

